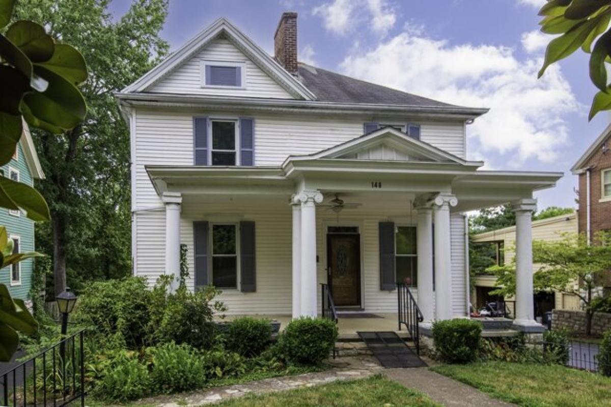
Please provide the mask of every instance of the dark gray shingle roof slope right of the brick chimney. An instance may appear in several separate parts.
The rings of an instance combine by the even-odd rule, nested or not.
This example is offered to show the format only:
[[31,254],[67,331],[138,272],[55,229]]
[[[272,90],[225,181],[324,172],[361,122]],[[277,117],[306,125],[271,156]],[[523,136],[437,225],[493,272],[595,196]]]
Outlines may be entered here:
[[299,77],[321,102],[453,106],[299,63]]

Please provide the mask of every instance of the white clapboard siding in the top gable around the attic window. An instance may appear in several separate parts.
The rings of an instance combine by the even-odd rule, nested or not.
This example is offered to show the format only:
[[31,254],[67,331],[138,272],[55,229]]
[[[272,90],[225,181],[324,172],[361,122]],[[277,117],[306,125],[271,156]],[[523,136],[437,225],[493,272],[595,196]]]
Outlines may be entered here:
[[[246,87],[202,87],[201,64],[203,60],[246,63]],[[196,56],[169,73],[149,92],[180,93],[185,95],[243,96],[245,98],[293,99],[283,87],[259,68],[229,40],[211,41]]]

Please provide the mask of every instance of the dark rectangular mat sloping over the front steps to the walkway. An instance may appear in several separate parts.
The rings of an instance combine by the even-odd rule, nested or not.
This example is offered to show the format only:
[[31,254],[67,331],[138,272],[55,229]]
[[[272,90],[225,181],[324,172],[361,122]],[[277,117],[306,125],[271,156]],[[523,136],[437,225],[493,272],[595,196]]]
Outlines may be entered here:
[[367,348],[384,367],[423,367],[426,363],[397,334],[388,332],[357,332]]

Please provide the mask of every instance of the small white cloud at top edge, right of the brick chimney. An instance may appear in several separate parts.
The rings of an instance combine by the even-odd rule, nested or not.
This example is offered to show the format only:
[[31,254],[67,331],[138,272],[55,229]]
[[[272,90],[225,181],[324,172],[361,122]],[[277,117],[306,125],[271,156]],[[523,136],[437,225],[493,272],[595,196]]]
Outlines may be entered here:
[[387,0],[332,0],[314,7],[312,14],[323,18],[327,31],[338,35],[347,35],[363,26],[386,35],[397,21]]

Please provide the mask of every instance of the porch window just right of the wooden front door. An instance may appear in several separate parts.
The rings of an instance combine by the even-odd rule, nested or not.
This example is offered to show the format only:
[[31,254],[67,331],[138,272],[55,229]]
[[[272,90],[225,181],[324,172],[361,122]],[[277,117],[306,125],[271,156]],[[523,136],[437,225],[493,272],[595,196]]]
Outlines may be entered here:
[[395,231],[395,270],[397,282],[417,286],[418,256],[415,226],[398,226]]

